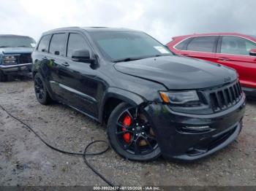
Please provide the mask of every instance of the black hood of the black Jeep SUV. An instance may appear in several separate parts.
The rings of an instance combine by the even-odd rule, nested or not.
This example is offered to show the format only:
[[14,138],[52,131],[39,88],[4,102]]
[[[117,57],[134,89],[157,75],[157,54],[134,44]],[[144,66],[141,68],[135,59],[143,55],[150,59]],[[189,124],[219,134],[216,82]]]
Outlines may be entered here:
[[236,80],[236,71],[217,63],[179,56],[120,62],[117,71],[165,85],[168,90],[200,89]]

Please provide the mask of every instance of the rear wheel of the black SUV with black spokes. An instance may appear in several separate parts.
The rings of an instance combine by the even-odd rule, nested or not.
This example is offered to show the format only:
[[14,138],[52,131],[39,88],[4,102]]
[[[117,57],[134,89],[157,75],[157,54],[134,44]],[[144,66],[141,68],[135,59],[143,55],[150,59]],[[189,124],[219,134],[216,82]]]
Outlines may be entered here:
[[34,92],[36,94],[37,101],[40,104],[48,105],[52,102],[48,90],[46,89],[45,82],[39,73],[34,76]]

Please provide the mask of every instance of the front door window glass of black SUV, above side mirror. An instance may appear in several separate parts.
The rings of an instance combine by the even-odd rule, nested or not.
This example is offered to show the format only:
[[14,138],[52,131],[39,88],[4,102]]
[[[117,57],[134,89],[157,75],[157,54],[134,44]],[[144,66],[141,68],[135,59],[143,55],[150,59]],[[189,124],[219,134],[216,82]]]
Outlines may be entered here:
[[67,44],[67,57],[71,58],[75,50],[90,50],[86,40],[80,34],[69,34],[69,42]]

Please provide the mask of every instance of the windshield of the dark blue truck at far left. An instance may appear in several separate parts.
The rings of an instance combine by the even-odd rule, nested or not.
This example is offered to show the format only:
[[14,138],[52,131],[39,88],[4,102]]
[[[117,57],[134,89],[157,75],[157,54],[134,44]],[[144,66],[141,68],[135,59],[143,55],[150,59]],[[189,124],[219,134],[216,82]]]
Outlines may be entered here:
[[34,47],[35,43],[27,36],[0,36],[0,47]]

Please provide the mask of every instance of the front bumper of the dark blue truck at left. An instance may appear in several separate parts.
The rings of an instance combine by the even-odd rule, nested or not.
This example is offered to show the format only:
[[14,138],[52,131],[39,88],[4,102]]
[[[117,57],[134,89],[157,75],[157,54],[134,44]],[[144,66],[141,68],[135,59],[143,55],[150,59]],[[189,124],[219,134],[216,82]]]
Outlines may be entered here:
[[0,65],[4,74],[28,74],[31,72],[32,63],[20,63],[15,65]]

